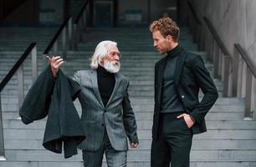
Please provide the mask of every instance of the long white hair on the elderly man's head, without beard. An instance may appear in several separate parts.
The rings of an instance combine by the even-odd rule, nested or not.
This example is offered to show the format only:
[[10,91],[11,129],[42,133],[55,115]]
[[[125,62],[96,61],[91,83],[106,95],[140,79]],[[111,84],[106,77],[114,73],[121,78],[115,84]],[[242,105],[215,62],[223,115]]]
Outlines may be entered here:
[[91,58],[90,67],[97,69],[102,58],[105,58],[110,50],[110,47],[117,46],[114,41],[101,41],[95,48],[95,53]]

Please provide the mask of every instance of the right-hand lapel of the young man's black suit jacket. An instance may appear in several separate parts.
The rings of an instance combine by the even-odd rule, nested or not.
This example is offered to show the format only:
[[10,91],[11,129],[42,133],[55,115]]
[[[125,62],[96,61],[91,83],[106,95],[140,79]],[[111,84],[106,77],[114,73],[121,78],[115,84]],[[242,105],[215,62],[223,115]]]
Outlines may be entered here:
[[187,54],[185,51],[182,49],[181,53],[179,53],[178,58],[177,58],[177,63],[174,71],[174,85],[178,85],[181,73],[182,73],[182,68],[183,64],[185,62],[185,59],[187,58]]

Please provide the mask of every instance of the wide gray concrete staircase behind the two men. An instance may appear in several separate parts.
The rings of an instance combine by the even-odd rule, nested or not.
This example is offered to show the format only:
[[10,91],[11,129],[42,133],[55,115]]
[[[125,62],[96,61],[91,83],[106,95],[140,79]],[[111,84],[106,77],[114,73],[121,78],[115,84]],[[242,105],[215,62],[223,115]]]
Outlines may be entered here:
[[[140,144],[128,151],[128,167],[150,166],[151,125],[153,118],[154,64],[163,55],[153,48],[151,34],[147,28],[91,28],[83,35],[84,43],[78,51],[69,51],[62,69],[72,76],[78,69],[90,68],[90,57],[97,43],[102,40],[114,40],[121,53],[121,69],[130,78],[130,99],[136,114]],[[192,35],[187,28],[181,28],[180,44],[187,50],[202,55],[197,51],[197,44],[192,43]],[[1,45],[3,47],[3,45]],[[7,73],[13,62],[12,56],[0,57],[1,78]],[[3,63],[6,62],[6,63]],[[38,72],[45,67],[45,60],[38,57]],[[206,67],[213,75],[213,65],[206,62]],[[25,92],[32,85],[31,62],[25,69]],[[82,167],[82,154],[64,159],[64,154],[54,154],[42,146],[46,119],[24,125],[18,120],[17,80],[8,83],[3,90],[3,127],[6,161],[0,161],[1,167]],[[256,167],[256,122],[244,121],[243,99],[223,98],[223,83],[214,79],[219,92],[219,99],[207,114],[207,133],[194,135],[192,167]],[[200,94],[202,98],[202,94]],[[79,114],[79,102],[74,102]],[[103,166],[106,166],[105,160]]]

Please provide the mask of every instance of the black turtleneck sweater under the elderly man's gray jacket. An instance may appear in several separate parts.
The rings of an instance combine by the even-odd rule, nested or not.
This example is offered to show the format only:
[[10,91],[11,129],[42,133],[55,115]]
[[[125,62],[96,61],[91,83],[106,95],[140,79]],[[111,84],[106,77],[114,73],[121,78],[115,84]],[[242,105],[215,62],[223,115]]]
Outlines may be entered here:
[[97,68],[97,79],[100,97],[104,106],[106,106],[115,87],[115,73],[110,73],[99,65]]

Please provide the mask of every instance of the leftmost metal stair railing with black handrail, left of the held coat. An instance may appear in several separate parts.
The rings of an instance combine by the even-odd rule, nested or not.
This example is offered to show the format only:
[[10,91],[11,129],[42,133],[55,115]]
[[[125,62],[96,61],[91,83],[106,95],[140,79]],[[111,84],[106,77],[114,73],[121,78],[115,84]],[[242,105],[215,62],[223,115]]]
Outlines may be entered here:
[[32,55],[32,78],[33,81],[37,78],[37,46],[36,43],[31,43],[25,50],[23,55],[14,64],[13,68],[8,72],[8,74],[3,78],[0,83],[0,160],[4,159],[4,139],[3,139],[3,113],[1,104],[1,92],[8,82],[13,78],[13,75],[17,73],[18,75],[18,107],[20,108],[23,104],[24,99],[24,82],[23,82],[23,62],[28,58],[28,55]]

